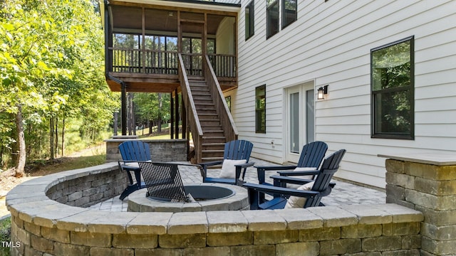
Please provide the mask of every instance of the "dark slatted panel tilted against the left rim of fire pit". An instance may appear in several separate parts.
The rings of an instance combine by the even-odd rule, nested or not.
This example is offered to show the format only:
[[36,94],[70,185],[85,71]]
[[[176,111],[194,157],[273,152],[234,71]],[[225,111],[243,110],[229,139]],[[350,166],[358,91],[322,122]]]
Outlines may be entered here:
[[187,194],[177,164],[140,161],[148,196],[187,201]]

